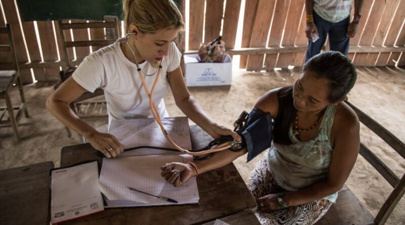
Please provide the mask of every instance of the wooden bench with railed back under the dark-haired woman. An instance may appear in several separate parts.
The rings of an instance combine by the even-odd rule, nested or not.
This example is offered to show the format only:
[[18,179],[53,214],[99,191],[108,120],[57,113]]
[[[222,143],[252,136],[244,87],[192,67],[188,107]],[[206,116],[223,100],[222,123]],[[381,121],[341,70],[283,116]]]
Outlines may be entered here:
[[[402,158],[405,158],[405,144],[396,138],[382,125],[373,120],[366,113],[359,110],[349,102],[346,102],[356,113],[360,122],[369,127]],[[394,188],[389,197],[378,211],[377,216],[373,215],[360,203],[346,186],[340,190],[339,197],[335,204],[316,224],[384,224],[392,210],[398,204],[405,193],[405,174],[399,179],[398,176],[376,156],[368,147],[361,143],[360,155],[363,156]]]

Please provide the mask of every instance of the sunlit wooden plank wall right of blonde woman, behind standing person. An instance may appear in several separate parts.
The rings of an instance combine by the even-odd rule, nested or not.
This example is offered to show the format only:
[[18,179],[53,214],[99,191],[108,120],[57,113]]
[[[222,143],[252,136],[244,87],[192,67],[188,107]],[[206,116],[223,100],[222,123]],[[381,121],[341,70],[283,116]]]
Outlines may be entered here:
[[[241,4],[245,6],[241,49],[234,49]],[[229,54],[241,55],[240,68],[259,71],[301,66],[307,46],[304,4],[304,0],[190,0],[186,54],[198,50],[203,30],[204,41],[220,34],[218,15],[223,14],[223,40]],[[404,66],[404,18],[405,0],[365,0],[357,34],[350,40],[349,57],[358,66]]]

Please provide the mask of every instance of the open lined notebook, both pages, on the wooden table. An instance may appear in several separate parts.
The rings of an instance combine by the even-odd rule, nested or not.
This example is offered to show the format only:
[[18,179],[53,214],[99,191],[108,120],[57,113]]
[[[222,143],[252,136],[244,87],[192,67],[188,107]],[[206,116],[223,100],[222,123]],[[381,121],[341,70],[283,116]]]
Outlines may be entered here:
[[[174,142],[182,148],[191,149],[186,117],[164,118],[163,123]],[[172,148],[154,119],[113,120],[109,132],[126,145],[126,148],[145,145]],[[104,158],[99,185],[107,203],[106,207],[198,203],[195,177],[181,187],[173,187],[160,176],[160,167],[165,163],[186,163],[192,160],[190,155],[148,148],[124,152],[113,159]],[[168,197],[178,203],[134,192],[129,187]]]

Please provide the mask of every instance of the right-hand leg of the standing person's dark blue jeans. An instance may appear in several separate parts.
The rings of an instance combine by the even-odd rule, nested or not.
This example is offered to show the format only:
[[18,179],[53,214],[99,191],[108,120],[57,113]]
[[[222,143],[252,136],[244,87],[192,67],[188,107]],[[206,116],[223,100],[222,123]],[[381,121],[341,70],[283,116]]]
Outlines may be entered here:
[[350,18],[334,23],[329,30],[329,44],[331,51],[341,52],[345,56],[349,52],[350,38],[346,37],[347,27],[349,26]]

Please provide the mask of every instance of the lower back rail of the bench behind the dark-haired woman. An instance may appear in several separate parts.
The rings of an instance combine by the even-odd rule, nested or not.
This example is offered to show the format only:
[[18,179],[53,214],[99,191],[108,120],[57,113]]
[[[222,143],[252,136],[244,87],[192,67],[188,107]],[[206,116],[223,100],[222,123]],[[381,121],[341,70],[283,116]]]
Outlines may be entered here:
[[398,184],[399,178],[388,166],[381,161],[369,148],[362,143],[360,144],[360,155],[362,155],[393,187]]

